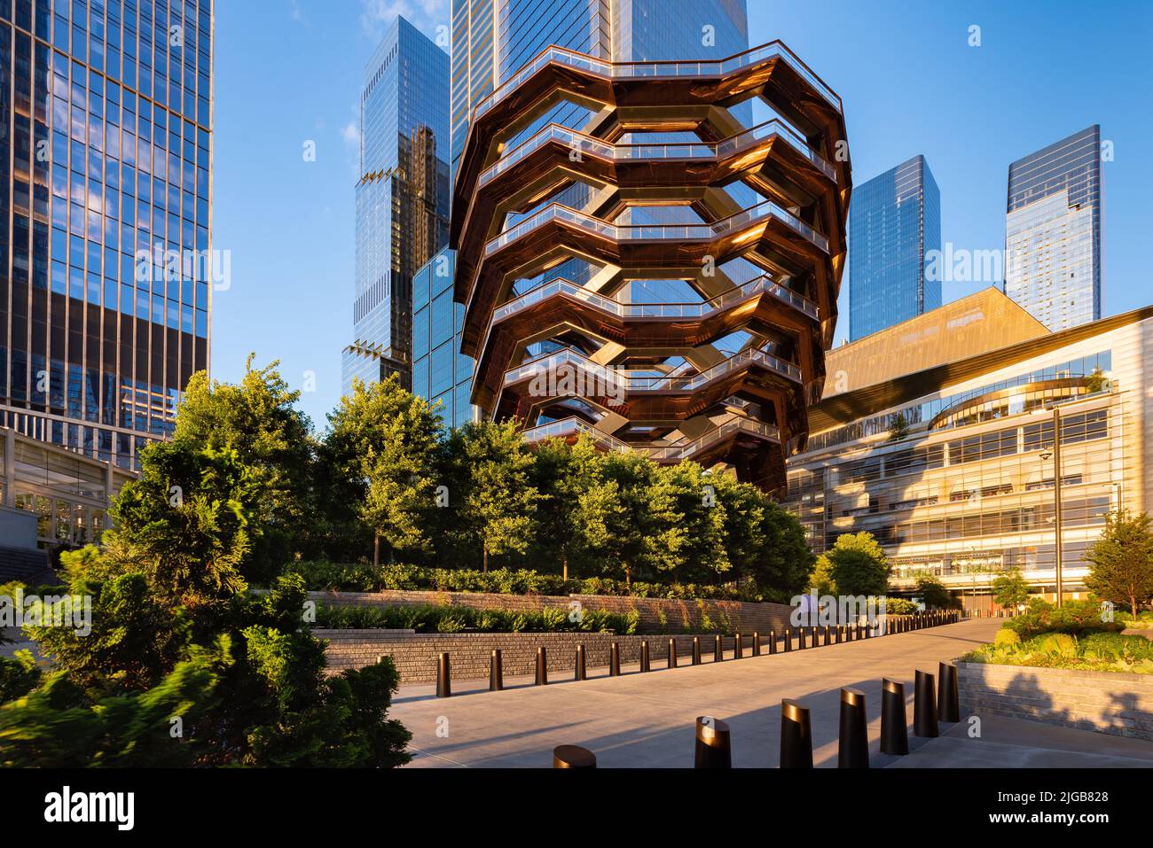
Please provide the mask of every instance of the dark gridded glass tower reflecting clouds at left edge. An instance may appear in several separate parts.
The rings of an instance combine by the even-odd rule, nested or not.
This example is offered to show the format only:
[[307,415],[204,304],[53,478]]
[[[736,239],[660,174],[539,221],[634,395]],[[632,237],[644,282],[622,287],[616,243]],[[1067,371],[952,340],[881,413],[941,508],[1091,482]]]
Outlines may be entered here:
[[0,425],[126,468],[172,432],[228,285],[211,134],[212,0],[0,0]]

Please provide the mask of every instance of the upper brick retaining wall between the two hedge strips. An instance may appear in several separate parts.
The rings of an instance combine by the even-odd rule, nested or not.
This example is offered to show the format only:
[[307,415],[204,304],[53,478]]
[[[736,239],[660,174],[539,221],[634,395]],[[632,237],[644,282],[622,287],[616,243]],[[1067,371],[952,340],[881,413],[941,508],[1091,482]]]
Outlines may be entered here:
[[[702,612],[713,628],[736,630],[783,630],[789,627],[792,607],[786,604],[752,604],[739,600],[669,600],[665,598],[624,598],[604,595],[490,595],[485,592],[399,591],[309,592],[317,604],[329,606],[467,606],[474,610],[514,610],[538,612],[545,607],[570,611],[578,601],[583,610],[640,613],[638,630],[646,634],[684,633],[700,628]],[[664,619],[662,621],[662,613]]]

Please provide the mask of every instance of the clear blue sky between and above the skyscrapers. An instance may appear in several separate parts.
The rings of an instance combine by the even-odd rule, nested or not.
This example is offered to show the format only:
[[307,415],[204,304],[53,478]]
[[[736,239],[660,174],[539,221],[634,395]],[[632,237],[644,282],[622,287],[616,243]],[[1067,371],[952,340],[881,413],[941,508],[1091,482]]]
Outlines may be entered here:
[[[1153,303],[1147,0],[748,6],[753,44],[781,38],[841,94],[854,182],[926,156],[942,238],[958,248],[1003,248],[1010,161],[1100,123],[1115,154],[1103,165],[1105,313]],[[217,2],[213,247],[232,251],[232,288],[214,293],[212,377],[239,379],[249,350],[280,359],[295,387],[312,372],[302,406],[318,427],[352,334],[361,76],[397,12],[430,37],[449,25],[447,0]],[[303,160],[307,142],[316,161]],[[975,288],[944,283],[944,300]]]

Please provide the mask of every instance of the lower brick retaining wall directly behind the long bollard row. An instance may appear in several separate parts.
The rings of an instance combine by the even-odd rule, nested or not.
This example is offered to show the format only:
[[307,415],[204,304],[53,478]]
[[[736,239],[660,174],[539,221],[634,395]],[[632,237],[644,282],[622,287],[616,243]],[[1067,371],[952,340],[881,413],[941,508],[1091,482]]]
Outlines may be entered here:
[[[620,645],[620,662],[640,661],[641,642],[648,639],[653,667],[664,667],[669,658],[669,638],[677,642],[677,658],[680,665],[692,660],[692,636],[613,636],[602,633],[460,633],[460,634],[414,634],[402,630],[314,630],[317,638],[327,639],[329,673],[345,668],[362,668],[377,661],[382,654],[392,657],[400,680],[405,683],[430,683],[436,680],[437,654],[449,652],[453,680],[481,680],[489,676],[489,660],[493,649],[500,649],[500,660],[505,676],[534,674],[536,649],[545,649],[549,674],[557,680],[571,679],[575,667],[576,645],[585,645],[585,664],[588,668],[609,665],[610,645]],[[701,654],[711,661],[715,637],[701,636]],[[752,656],[753,635],[744,634],[745,656]],[[723,637],[724,658],[732,659],[736,639]],[[768,653],[768,631],[761,634],[761,650]],[[778,645],[783,650],[778,633]],[[792,639],[797,650],[797,638]]]

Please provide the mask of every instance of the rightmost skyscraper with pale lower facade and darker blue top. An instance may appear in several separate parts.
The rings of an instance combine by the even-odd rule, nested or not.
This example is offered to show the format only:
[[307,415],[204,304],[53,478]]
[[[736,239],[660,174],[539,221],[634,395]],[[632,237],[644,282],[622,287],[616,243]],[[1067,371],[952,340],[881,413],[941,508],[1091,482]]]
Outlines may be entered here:
[[1101,317],[1101,128],[1009,166],[1005,294],[1052,331]]

